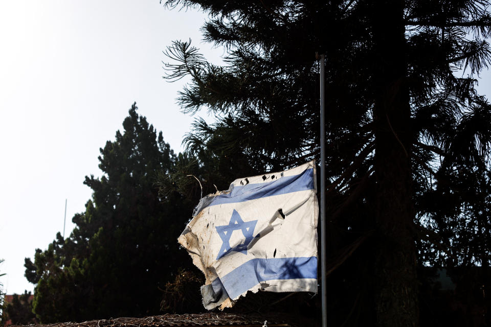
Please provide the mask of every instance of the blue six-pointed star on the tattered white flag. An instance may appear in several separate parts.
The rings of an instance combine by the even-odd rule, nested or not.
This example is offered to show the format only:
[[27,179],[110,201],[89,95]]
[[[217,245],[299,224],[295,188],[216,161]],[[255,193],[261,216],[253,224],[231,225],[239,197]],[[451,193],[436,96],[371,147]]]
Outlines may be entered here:
[[[228,225],[215,226],[216,231],[218,232],[218,235],[220,236],[221,241],[223,242],[221,244],[220,251],[218,251],[218,256],[216,257],[216,259],[217,260],[220,259],[222,256],[224,256],[227,253],[230,253],[231,251],[237,251],[247,254],[247,246],[254,239],[252,233],[254,232],[256,223],[257,220],[244,222],[242,218],[240,218],[239,213],[234,209]],[[230,241],[230,237],[232,236],[232,232],[234,230],[241,230],[245,240],[242,244],[239,244],[235,247],[230,247],[229,241]]]

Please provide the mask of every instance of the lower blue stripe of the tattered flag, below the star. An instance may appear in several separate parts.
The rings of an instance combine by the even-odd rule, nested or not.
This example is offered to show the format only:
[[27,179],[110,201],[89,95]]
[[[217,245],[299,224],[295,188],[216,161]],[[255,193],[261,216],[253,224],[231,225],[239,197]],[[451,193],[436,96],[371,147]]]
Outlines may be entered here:
[[[213,282],[215,292],[225,287],[231,299],[260,282],[273,279],[317,279],[317,257],[252,259]],[[222,286],[223,285],[223,286]]]

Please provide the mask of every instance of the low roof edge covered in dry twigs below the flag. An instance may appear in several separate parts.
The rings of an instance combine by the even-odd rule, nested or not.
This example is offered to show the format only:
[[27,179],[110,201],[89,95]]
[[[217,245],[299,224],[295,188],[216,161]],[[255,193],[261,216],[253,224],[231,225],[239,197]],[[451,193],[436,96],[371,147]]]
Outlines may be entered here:
[[84,322],[62,322],[54,324],[30,325],[35,327],[167,327],[167,326],[300,326],[295,317],[287,315],[259,315],[259,314],[226,314],[226,313],[200,313],[200,314],[165,314],[145,318],[110,318]]

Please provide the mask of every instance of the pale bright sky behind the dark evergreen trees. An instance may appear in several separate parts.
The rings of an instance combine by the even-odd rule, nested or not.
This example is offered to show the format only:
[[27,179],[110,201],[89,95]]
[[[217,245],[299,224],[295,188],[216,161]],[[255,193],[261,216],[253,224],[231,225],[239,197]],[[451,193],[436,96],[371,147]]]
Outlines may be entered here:
[[222,50],[200,42],[204,19],[159,0],[0,0],[0,282],[9,294],[33,290],[24,258],[62,232],[65,199],[70,235],[91,197],[84,176],[101,175],[99,148],[133,102],[182,149],[193,118],[175,104],[183,81],[162,79],[162,50],[191,38],[219,61]]

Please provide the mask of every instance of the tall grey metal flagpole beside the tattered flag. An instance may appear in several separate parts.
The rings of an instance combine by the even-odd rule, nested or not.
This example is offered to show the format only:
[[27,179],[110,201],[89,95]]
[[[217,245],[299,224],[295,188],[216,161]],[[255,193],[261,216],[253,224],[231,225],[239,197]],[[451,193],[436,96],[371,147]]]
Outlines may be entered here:
[[326,288],[326,132],[324,115],[324,55],[320,55],[320,104],[321,104],[321,300],[322,300],[322,326],[327,327],[327,288]]

